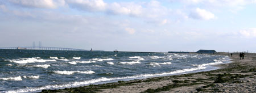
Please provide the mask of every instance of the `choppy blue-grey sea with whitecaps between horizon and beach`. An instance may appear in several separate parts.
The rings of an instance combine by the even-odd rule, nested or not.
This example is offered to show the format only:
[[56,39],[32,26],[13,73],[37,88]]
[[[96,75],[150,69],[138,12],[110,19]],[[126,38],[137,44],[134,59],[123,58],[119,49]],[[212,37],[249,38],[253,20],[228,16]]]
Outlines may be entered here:
[[40,92],[208,71],[229,62],[207,54],[0,49],[0,92]]

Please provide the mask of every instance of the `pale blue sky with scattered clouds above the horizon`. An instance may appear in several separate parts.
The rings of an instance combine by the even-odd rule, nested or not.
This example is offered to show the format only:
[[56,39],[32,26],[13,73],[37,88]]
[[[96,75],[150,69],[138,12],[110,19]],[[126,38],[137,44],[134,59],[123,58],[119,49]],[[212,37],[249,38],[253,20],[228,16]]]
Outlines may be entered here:
[[0,1],[0,47],[256,52],[256,0]]

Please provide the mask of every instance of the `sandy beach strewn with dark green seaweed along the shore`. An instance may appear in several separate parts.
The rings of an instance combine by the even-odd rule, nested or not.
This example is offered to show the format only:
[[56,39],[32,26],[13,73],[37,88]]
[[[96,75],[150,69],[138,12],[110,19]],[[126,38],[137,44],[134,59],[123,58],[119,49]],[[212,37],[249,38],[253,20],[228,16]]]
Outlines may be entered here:
[[[228,53],[216,53],[228,56]],[[42,92],[256,92],[256,54],[233,53],[221,69]]]

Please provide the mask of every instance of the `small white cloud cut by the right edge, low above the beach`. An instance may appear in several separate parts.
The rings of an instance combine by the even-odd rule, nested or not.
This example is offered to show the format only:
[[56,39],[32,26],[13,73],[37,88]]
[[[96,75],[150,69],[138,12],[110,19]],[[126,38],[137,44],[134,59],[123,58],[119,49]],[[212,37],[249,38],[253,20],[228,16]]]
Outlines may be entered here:
[[246,38],[256,37],[256,28],[243,29],[240,34]]

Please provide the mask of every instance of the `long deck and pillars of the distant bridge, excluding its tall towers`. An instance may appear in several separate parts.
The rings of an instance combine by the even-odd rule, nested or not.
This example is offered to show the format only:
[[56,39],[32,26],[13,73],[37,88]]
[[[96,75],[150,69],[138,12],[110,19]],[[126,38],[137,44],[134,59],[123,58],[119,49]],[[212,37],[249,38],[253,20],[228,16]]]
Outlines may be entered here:
[[24,50],[76,50],[76,51],[88,51],[84,49],[75,48],[58,48],[58,47],[46,47],[46,46],[22,46],[22,47],[4,47],[0,49],[24,49]]

